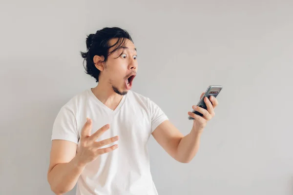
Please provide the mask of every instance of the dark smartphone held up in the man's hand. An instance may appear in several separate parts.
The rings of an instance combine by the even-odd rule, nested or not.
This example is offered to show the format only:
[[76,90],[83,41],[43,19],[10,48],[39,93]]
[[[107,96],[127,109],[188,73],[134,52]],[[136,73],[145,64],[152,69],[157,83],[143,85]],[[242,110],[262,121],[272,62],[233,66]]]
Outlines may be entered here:
[[[216,98],[219,95],[219,93],[220,93],[220,91],[222,89],[223,89],[223,86],[221,86],[221,85],[209,85],[207,91],[205,92],[205,94],[203,95],[203,97],[198,101],[198,103],[196,104],[196,106],[199,106],[199,107],[204,108],[204,109],[207,110],[207,105],[206,105],[206,103],[204,101],[204,98],[205,97],[209,98],[211,96],[213,96],[213,97]],[[201,116],[201,117],[203,116],[203,114],[201,114],[201,113],[199,113],[199,112],[197,112],[195,110],[192,110],[192,112],[194,114],[196,114],[196,115]],[[188,119],[189,120],[194,120],[194,118],[193,117],[190,117],[190,116],[188,116]]]

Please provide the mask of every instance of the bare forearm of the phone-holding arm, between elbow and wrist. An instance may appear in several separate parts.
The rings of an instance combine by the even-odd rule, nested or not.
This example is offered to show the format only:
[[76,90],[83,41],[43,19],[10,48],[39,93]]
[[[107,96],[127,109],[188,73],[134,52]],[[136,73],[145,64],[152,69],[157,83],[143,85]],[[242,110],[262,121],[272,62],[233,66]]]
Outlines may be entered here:
[[196,155],[202,132],[191,130],[188,135],[183,137],[177,148],[176,158],[180,162],[188,163]]

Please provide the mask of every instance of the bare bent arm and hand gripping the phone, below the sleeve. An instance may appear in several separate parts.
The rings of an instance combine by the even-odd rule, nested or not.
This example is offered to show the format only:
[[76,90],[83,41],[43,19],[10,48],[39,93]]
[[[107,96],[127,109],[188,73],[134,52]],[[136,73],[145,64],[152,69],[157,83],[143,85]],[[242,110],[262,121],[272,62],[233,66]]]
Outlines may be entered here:
[[203,117],[188,112],[189,116],[195,118],[195,120],[193,120],[192,129],[188,135],[183,136],[169,120],[162,122],[152,133],[155,140],[164,150],[179,162],[188,163],[196,155],[199,149],[202,132],[207,122],[214,117],[214,108],[218,105],[218,101],[216,98],[211,97],[210,100],[205,98],[205,103],[207,105],[207,110],[193,106],[195,111],[204,115]]

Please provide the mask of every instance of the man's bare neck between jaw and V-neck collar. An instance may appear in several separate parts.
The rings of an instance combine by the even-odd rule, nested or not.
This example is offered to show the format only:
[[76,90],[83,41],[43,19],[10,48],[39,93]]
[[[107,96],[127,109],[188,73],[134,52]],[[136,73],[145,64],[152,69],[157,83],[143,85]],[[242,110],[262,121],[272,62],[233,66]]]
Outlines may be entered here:
[[104,84],[103,82],[99,82],[98,85],[91,90],[102,103],[112,110],[115,110],[123,98],[123,96],[113,91],[110,84]]

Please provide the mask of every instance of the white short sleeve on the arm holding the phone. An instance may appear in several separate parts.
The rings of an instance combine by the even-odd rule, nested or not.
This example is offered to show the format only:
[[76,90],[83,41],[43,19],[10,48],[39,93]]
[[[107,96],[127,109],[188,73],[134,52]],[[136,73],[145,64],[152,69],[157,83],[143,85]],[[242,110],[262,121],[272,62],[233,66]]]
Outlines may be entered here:
[[163,110],[153,101],[149,101],[150,117],[151,117],[151,133],[165,120],[168,119]]

